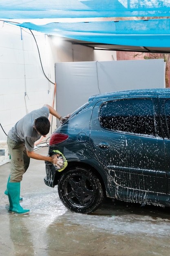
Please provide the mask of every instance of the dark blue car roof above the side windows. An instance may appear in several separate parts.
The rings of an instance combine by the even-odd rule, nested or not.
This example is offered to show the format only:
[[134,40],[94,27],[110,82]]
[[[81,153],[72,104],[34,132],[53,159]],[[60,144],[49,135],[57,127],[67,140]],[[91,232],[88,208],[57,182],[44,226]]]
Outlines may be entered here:
[[111,98],[111,97],[127,97],[127,96],[142,96],[142,95],[168,95],[170,96],[170,88],[154,88],[154,89],[136,89],[125,90],[117,92],[105,92],[102,94],[96,94],[89,97],[88,101],[94,101],[99,99]]

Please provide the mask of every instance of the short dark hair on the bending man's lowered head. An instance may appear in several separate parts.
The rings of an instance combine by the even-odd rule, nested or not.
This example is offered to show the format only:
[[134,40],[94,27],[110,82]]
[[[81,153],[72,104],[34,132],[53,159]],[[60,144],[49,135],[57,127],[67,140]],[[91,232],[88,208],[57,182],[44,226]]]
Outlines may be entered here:
[[34,126],[41,135],[47,135],[50,130],[50,121],[46,117],[38,117],[35,119]]

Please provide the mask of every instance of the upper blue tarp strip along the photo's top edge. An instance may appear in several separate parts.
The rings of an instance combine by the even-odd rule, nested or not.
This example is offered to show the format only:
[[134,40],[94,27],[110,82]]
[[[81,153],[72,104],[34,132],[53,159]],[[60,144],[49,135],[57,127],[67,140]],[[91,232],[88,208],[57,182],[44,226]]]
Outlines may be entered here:
[[169,0],[0,0],[0,18],[170,16]]

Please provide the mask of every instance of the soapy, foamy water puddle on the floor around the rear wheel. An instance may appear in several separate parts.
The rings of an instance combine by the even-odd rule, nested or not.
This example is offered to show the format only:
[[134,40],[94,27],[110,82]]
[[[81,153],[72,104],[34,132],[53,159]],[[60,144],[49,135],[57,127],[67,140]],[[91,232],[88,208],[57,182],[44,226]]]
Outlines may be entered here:
[[150,209],[127,209],[125,205],[114,204],[105,204],[92,214],[73,213],[64,207],[56,189],[27,193],[20,204],[23,208],[30,209],[26,222],[31,220],[33,229],[37,225],[46,229],[52,223],[59,225],[61,222],[63,225],[82,226],[88,223],[91,229],[110,234],[170,235],[170,218],[164,213],[161,216],[161,212],[157,214]]

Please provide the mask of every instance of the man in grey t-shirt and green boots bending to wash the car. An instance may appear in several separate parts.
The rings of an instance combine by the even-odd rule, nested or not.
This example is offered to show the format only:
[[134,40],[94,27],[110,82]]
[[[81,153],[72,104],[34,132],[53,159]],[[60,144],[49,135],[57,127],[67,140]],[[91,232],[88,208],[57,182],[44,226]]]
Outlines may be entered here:
[[9,212],[28,214],[28,209],[20,206],[20,182],[29,167],[30,158],[51,162],[60,168],[61,159],[35,153],[34,143],[41,136],[46,137],[50,130],[49,114],[58,118],[61,123],[69,117],[62,117],[51,106],[45,104],[38,110],[33,110],[20,119],[8,133],[7,144],[11,155],[11,173],[4,192],[9,197]]

